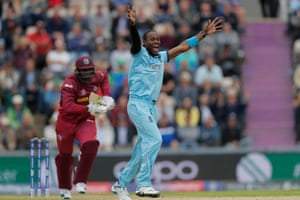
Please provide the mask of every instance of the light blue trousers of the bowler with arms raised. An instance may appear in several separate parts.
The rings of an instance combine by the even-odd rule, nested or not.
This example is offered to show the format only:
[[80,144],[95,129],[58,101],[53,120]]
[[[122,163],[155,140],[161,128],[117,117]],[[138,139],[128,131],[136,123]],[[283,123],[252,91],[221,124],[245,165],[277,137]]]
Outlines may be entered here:
[[138,174],[137,186],[152,186],[151,172],[162,144],[157,126],[157,108],[152,102],[130,99],[128,114],[136,126],[138,138],[131,159],[119,174],[119,182],[126,187]]

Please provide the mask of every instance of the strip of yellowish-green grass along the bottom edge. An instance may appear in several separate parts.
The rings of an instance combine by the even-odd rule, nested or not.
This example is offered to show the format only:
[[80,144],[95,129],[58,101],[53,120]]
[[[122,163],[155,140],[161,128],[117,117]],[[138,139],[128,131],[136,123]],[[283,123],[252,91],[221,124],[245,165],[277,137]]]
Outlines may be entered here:
[[[132,200],[146,200],[152,198],[141,198],[134,194],[130,194]],[[32,199],[60,199],[58,194],[51,194],[48,198],[34,197],[28,195],[0,195],[1,200],[32,200]],[[117,196],[113,194],[72,194],[72,200],[117,200]],[[284,190],[284,191],[220,191],[220,192],[163,192],[157,200],[299,200],[300,190]]]

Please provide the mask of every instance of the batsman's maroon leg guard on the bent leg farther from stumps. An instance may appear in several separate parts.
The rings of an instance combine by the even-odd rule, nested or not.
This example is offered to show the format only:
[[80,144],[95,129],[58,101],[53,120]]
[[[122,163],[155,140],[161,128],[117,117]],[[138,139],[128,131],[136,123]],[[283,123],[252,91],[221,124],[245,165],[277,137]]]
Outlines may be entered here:
[[81,148],[80,159],[76,168],[75,178],[73,183],[86,183],[93,162],[98,152],[99,142],[97,140],[84,143]]

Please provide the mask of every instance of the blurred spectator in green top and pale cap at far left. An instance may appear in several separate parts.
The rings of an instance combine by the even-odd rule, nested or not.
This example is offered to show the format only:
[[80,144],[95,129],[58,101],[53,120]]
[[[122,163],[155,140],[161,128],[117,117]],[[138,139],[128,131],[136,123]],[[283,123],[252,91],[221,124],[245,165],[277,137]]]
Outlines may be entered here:
[[14,130],[19,128],[24,115],[32,115],[29,108],[24,104],[24,98],[20,94],[12,97],[12,106],[7,108],[9,126]]

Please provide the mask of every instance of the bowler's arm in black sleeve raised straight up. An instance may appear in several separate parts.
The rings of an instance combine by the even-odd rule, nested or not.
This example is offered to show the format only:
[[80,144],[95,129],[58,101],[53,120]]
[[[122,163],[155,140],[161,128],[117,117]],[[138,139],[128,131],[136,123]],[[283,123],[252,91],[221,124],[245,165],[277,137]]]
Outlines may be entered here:
[[129,31],[132,40],[131,53],[136,54],[141,50],[141,39],[136,28],[136,11],[135,9],[128,6],[127,9],[128,21],[129,21]]

